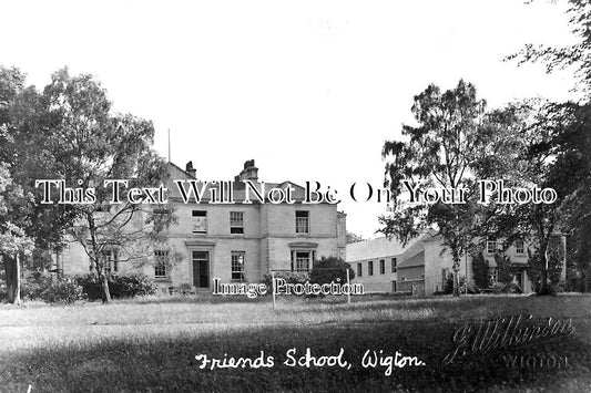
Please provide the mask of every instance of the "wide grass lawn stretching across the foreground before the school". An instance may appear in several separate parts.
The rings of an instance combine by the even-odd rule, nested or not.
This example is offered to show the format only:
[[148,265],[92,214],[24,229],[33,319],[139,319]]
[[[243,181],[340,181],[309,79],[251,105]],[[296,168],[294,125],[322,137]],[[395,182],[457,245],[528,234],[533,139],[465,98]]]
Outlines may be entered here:
[[[519,314],[532,316],[523,327],[570,319],[573,331],[444,362],[462,327]],[[308,348],[317,364],[292,365]],[[343,366],[327,365],[338,363],[342,349]],[[364,363],[366,351],[376,351],[383,364]],[[388,363],[397,351],[416,363]],[[222,365],[234,358],[238,366],[202,369],[205,356]],[[591,296],[361,297],[351,304],[281,298],[276,310],[268,298],[203,296],[0,304],[0,391],[28,390],[588,392]]]

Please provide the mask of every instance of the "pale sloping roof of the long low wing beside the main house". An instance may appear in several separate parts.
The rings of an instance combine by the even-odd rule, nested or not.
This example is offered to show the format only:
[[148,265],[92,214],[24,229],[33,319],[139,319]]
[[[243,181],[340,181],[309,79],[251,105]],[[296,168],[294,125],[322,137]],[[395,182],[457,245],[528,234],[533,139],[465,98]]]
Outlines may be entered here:
[[412,248],[419,241],[425,240],[428,234],[420,235],[410,240],[406,246],[401,241],[387,237],[379,237],[377,239],[353,242],[347,245],[347,261],[353,262],[365,259],[385,258],[390,256],[398,256]]

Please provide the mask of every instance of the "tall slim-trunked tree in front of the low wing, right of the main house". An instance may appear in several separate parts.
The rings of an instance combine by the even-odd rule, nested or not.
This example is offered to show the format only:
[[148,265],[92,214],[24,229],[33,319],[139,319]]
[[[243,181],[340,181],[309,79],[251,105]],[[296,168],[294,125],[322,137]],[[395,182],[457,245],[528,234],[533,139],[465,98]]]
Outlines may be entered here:
[[[486,102],[477,99],[470,83],[460,81],[456,89],[444,93],[431,84],[415,96],[411,111],[418,126],[404,125],[407,141],[386,142],[383,149],[383,157],[388,161],[385,184],[394,203],[390,215],[380,217],[381,231],[406,244],[436,227],[451,252],[455,296],[459,296],[460,258],[471,249],[475,237],[478,205],[473,198],[472,168],[485,142],[480,133],[485,107]],[[403,197],[408,186],[463,188],[466,203],[422,199],[407,204]]]

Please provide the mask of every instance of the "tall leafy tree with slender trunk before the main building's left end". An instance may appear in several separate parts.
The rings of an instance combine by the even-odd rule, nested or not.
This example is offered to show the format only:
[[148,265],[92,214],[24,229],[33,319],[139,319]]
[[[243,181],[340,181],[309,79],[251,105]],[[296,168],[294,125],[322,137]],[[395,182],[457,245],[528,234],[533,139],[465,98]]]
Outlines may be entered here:
[[[154,209],[144,204],[147,195],[140,195],[137,204],[124,194],[128,187],[166,184],[166,163],[151,147],[154,127],[132,115],[112,115],[100,83],[91,75],[70,76],[67,69],[52,75],[41,103],[48,120],[47,148],[57,164],[54,178],[96,190],[93,203],[69,205],[75,217],[70,235],[101,278],[103,301],[110,301],[106,276],[113,255],[120,261],[147,262],[156,245],[165,247],[163,234],[174,220],[167,206]],[[129,182],[119,195],[114,184],[105,183],[113,179]],[[120,204],[111,205],[113,195]]]

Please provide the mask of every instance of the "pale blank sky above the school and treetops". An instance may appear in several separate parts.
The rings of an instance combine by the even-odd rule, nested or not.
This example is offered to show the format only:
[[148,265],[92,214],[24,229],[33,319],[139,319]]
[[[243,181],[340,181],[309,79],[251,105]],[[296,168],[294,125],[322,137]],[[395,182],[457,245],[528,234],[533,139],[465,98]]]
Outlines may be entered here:
[[[573,96],[571,70],[502,59],[573,42],[563,1],[6,1],[0,64],[42,89],[91,73],[116,112],[153,121],[155,148],[197,177],[337,189],[347,229],[377,235],[387,205],[349,187],[384,183],[381,147],[412,123],[412,97],[471,82],[488,107]],[[8,17],[8,18],[7,18]]]

